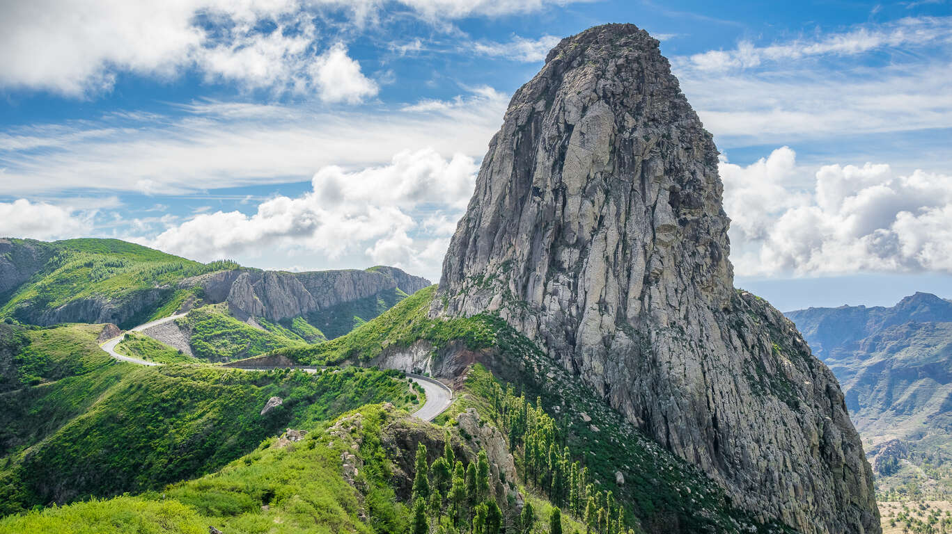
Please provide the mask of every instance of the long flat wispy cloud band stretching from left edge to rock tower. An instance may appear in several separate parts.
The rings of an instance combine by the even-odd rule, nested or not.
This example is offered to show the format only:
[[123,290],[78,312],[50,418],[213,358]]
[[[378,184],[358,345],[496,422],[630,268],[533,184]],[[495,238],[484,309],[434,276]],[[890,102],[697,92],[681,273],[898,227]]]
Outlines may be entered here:
[[[175,118],[11,128],[0,138],[7,167],[0,195],[77,188],[163,195],[306,181],[327,165],[377,165],[420,146],[481,158],[507,96],[473,91],[429,110],[331,114],[308,105],[204,101],[183,106],[188,113]],[[31,148],[18,148],[27,143]]]

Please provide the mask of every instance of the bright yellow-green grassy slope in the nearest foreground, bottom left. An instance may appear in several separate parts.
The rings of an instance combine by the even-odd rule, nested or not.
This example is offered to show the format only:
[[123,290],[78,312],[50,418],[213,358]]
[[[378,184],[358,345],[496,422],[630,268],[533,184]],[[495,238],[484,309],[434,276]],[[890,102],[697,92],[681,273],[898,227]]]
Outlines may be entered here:
[[[357,417],[360,426],[351,426]],[[0,520],[0,533],[198,534],[208,532],[208,525],[228,534],[404,533],[409,509],[392,486],[399,460],[388,455],[384,443],[394,432],[442,439],[444,429],[411,419],[406,412],[367,406],[342,417],[331,429],[312,431],[300,443],[279,448],[268,440],[214,474],[167,486],[161,493],[32,511]],[[461,441],[458,432],[454,440]],[[354,443],[359,447],[351,448]],[[351,452],[361,463],[353,486],[342,476],[341,465],[342,456]],[[412,454],[407,452],[410,458]],[[526,500],[535,506],[541,518],[537,531],[542,531],[551,505],[534,494],[526,494]],[[584,531],[566,516],[563,525],[565,532]]]

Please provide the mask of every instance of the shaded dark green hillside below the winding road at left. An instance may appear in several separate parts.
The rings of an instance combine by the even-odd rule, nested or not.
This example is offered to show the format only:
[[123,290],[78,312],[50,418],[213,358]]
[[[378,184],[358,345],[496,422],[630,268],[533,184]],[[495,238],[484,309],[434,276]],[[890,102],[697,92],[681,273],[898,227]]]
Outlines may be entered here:
[[[48,346],[72,336],[86,352],[63,344],[52,359],[86,363],[69,375],[52,366],[58,380],[0,394],[0,511],[162,485],[220,467],[287,427],[312,426],[370,402],[412,403],[394,372],[118,363],[98,348],[93,326],[27,332]],[[282,397],[283,406],[260,415],[271,396]]]

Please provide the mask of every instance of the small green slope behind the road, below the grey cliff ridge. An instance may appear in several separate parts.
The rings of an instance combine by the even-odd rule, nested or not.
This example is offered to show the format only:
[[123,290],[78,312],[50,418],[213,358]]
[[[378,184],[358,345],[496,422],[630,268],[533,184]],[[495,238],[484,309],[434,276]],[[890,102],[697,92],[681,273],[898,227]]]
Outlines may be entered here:
[[[188,312],[175,322],[190,335],[195,357],[210,362],[231,361],[305,344],[297,334],[266,321],[271,330],[259,330],[228,315],[228,306],[212,304]],[[264,326],[264,325],[263,325]]]

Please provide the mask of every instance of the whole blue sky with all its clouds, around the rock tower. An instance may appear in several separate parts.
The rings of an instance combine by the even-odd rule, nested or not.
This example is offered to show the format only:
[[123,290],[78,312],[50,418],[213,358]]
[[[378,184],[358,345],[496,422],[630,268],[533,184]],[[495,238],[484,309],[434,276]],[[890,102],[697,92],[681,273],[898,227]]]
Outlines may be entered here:
[[939,0],[4,3],[0,235],[435,281],[508,98],[606,22],[661,41],[714,134],[737,285],[952,296]]

